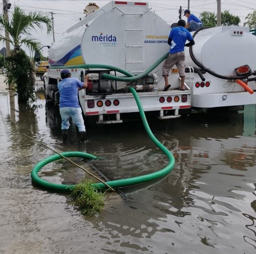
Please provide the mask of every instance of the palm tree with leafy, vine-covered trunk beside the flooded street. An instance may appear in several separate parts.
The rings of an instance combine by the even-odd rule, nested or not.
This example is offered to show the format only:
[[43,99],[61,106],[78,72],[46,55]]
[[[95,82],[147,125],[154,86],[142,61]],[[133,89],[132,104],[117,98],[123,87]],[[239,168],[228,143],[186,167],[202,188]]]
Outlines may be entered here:
[[9,41],[14,48],[11,50],[11,56],[6,58],[8,82],[16,84],[18,102],[34,100],[34,66],[21,46],[25,45],[32,52],[36,52],[41,47],[41,43],[31,37],[31,31],[37,31],[38,28],[42,30],[46,25],[49,34],[52,32],[51,20],[40,12],[26,14],[20,7],[15,6],[11,21],[6,21],[0,16],[0,25],[10,35],[10,39],[0,35],[0,42]]

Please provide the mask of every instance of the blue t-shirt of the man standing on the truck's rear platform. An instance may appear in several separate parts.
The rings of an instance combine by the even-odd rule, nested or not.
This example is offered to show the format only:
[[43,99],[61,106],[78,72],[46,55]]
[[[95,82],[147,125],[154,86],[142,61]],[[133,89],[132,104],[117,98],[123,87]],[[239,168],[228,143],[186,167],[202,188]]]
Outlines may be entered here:
[[172,39],[169,53],[184,51],[186,40],[193,40],[191,33],[182,26],[172,28],[169,34],[169,38]]

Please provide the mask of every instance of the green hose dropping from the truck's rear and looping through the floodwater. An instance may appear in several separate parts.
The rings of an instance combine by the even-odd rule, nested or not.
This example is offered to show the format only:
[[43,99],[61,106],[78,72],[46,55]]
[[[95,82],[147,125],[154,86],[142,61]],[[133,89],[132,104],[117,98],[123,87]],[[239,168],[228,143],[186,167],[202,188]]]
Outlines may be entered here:
[[[113,77],[113,76],[112,76]],[[110,187],[112,188],[118,188],[118,187],[124,187],[124,186],[129,186],[129,185],[134,185],[134,184],[139,184],[139,183],[145,183],[145,182],[149,182],[151,180],[160,178],[168,173],[170,173],[174,167],[175,164],[175,158],[172,155],[172,153],[164,146],[162,145],[154,136],[154,134],[152,133],[152,131],[149,128],[148,122],[146,120],[145,117],[145,113],[143,111],[143,107],[142,104],[140,103],[140,99],[139,96],[137,94],[137,92],[134,90],[134,88],[129,87],[128,90],[130,92],[132,92],[135,101],[138,105],[139,108],[139,113],[140,116],[142,118],[145,130],[147,132],[147,134],[149,135],[150,139],[155,143],[156,146],[158,146],[168,157],[169,159],[169,163],[167,164],[166,167],[162,168],[161,170],[154,172],[154,173],[150,173],[150,174],[145,174],[145,175],[141,175],[138,177],[132,177],[132,178],[125,178],[125,179],[119,179],[119,180],[113,180],[113,181],[109,181],[106,182],[108,185],[110,185]],[[81,157],[81,158],[86,158],[86,159],[95,159],[97,158],[94,155],[91,155],[89,153],[84,153],[84,152],[63,152],[62,155],[64,155],[65,157]],[[45,166],[46,164],[62,159],[62,157],[58,154],[49,156],[45,159],[43,159],[42,161],[38,162],[32,169],[31,171],[31,178],[32,181],[38,186],[41,187],[42,189],[46,189],[46,190],[50,190],[50,191],[56,191],[56,192],[71,192],[71,190],[74,188],[74,185],[65,185],[65,184],[56,184],[56,183],[50,183],[47,182],[43,179],[41,179],[37,173],[39,172],[39,170]],[[103,183],[94,183],[93,186],[97,189],[106,189],[106,185]]]

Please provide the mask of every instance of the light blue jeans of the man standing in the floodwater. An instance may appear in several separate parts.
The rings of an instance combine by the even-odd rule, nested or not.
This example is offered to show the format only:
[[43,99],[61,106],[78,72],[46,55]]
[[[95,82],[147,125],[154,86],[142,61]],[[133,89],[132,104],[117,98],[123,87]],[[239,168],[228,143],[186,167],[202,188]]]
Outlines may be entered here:
[[81,108],[63,107],[60,108],[60,115],[62,117],[62,130],[69,129],[69,119],[71,117],[76,126],[78,126],[79,132],[85,131]]

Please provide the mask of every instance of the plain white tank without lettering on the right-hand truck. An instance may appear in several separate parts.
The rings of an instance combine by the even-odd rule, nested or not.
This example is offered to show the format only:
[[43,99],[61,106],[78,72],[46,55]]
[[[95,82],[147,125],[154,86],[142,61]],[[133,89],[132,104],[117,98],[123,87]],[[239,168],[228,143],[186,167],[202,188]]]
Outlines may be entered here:
[[[193,32],[192,32],[193,33]],[[235,68],[249,65],[256,70],[256,36],[249,27],[220,26],[199,31],[193,55],[204,67],[220,75],[236,75]],[[196,66],[186,49],[186,65]]]

